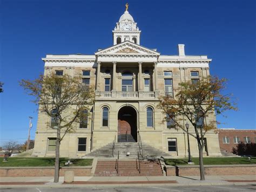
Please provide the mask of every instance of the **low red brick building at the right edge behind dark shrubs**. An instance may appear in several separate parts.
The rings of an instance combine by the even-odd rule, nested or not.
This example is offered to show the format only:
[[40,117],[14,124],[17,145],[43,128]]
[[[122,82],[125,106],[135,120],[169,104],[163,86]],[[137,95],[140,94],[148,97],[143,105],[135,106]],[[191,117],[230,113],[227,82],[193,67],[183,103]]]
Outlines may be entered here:
[[232,153],[239,143],[256,143],[256,130],[219,129],[219,145],[223,152]]

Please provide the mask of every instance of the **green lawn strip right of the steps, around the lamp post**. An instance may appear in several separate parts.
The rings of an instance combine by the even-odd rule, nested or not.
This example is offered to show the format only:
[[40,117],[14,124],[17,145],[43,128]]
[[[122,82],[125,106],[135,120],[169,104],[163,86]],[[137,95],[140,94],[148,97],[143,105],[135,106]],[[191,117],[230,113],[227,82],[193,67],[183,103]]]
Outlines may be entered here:
[[[166,165],[188,165],[188,159],[165,159]],[[199,158],[192,158],[194,165],[199,165]],[[204,165],[234,165],[234,164],[254,164],[256,158],[251,161],[248,158],[204,158]]]

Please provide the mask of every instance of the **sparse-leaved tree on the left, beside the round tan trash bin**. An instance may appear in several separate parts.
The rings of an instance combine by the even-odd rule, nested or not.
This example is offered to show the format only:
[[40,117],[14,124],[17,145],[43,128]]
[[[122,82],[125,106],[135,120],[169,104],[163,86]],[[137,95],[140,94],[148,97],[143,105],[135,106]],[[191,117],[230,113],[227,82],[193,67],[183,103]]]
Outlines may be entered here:
[[59,146],[66,133],[74,131],[75,122],[87,118],[90,104],[94,101],[92,88],[84,86],[81,77],[55,74],[39,76],[38,79],[22,80],[21,86],[35,97],[39,111],[51,117],[51,128],[56,130],[56,158],[54,182],[59,181]]

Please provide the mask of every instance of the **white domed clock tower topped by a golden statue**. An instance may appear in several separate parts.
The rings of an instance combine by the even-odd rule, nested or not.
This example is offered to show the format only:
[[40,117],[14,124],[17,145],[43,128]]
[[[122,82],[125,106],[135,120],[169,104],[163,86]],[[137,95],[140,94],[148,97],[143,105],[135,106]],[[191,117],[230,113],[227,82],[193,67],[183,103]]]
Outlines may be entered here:
[[140,32],[137,23],[134,22],[132,16],[128,12],[128,7],[124,14],[120,17],[113,32],[113,45],[120,44],[120,42],[131,41],[139,45]]

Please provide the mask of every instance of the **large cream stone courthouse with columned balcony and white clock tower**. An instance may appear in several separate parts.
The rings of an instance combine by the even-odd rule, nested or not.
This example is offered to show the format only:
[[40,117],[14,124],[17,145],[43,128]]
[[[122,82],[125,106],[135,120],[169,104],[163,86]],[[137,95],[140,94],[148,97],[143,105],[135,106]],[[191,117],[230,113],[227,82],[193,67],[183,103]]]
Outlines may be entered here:
[[[87,111],[89,119],[66,134],[60,156],[86,157],[113,141],[125,144],[138,143],[140,139],[143,146],[173,157],[185,157],[186,134],[172,122],[162,123],[165,114],[157,108],[159,96],[175,97],[180,82],[197,82],[209,75],[211,59],[206,55],[186,55],[183,44],[178,45],[178,54],[173,55],[161,55],[157,49],[142,46],[141,31],[127,10],[112,33],[109,38],[113,38],[113,45],[95,54],[49,54],[42,59],[44,75],[82,75],[84,84],[95,87],[96,99]],[[184,119],[184,125],[186,122]],[[50,125],[51,118],[39,112],[33,151],[37,157],[55,155],[56,130]],[[190,128],[193,132],[192,125]],[[198,156],[193,137],[190,147],[191,154]],[[221,155],[218,134],[206,134],[205,155]]]

